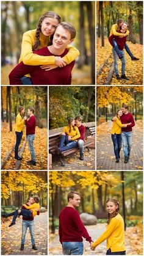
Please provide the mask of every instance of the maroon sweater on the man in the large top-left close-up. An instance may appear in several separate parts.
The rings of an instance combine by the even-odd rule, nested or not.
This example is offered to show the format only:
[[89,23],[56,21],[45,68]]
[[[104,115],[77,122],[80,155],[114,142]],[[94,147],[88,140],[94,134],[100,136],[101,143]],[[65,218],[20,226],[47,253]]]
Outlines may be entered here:
[[[43,47],[34,53],[41,56],[54,56],[48,47]],[[60,57],[65,56],[68,53],[68,50],[65,49],[64,53],[60,55]],[[73,69],[74,61],[70,64],[66,65],[63,68],[54,68],[50,71],[42,70],[39,66],[32,65],[24,65],[23,62],[20,62],[16,65],[15,68],[11,71],[9,75],[10,85],[20,85],[22,84],[21,79],[24,75],[30,74],[32,83],[34,85],[63,85],[63,84],[71,84],[71,70]]]

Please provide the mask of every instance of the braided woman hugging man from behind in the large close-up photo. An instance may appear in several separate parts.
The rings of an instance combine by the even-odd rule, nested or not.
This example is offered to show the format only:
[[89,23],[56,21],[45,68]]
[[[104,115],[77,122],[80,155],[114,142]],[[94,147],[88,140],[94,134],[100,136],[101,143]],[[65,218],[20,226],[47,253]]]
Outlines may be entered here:
[[[79,56],[79,51],[71,45],[67,46],[68,53],[64,57],[59,56],[39,56],[34,54],[33,51],[41,49],[52,44],[52,35],[56,30],[57,24],[60,23],[60,16],[55,12],[46,12],[41,15],[38,21],[37,29],[27,31],[23,34],[21,45],[21,56],[19,62],[23,61],[26,65],[47,65],[52,64],[53,68],[65,67]],[[21,78],[23,84],[32,84],[29,76]]]

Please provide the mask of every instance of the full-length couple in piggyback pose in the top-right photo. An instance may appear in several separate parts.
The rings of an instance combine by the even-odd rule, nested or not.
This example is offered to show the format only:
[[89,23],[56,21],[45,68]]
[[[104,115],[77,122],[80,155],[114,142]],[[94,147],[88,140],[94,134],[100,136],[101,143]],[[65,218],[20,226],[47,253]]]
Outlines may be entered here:
[[[131,60],[139,60],[138,58],[134,57],[129,49],[129,46],[126,43],[126,38],[128,37],[128,35],[128,23],[126,23],[123,19],[118,18],[117,24],[113,24],[109,35],[109,42],[110,45],[112,45],[113,47],[112,53],[114,60],[114,70],[117,80],[129,80],[129,78],[125,75],[126,57],[123,50],[124,48],[131,57]],[[121,60],[121,77],[118,74],[118,59]]]

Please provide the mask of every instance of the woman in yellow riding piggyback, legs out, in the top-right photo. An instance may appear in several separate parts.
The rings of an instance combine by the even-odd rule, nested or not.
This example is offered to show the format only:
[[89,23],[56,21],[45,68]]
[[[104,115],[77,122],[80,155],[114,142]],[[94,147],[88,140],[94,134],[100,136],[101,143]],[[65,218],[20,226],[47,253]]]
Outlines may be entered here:
[[[129,35],[129,30],[128,29],[127,29],[125,34],[121,34],[121,33],[117,32],[118,30],[121,29],[121,26],[123,25],[123,23],[124,23],[124,20],[119,18],[117,20],[117,23],[112,25],[109,37],[111,35],[117,35],[119,37],[126,37],[127,35]],[[113,39],[112,42],[113,42],[113,47],[115,48],[115,51],[118,54],[119,59],[123,58],[123,56],[120,53],[120,49],[118,48],[118,45],[117,45],[117,42],[115,41],[115,39]],[[127,43],[125,43],[125,49],[126,49],[127,53],[129,54],[129,56],[131,57],[131,60],[139,60],[138,58],[134,57],[134,55],[131,53]]]

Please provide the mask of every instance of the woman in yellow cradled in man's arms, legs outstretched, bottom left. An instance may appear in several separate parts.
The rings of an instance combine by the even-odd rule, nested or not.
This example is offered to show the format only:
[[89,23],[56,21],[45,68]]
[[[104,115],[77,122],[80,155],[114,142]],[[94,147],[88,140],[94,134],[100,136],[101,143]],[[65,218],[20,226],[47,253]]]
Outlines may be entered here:
[[16,218],[18,217],[18,214],[24,216],[24,218],[26,218],[26,219],[34,218],[37,215],[37,211],[40,210],[40,204],[39,204],[38,197],[34,197],[33,205],[30,205],[28,207],[27,205],[24,204],[23,206],[27,210],[20,209],[20,210],[13,211],[13,213],[2,215],[3,218],[7,218],[7,217],[10,217],[10,216],[13,216],[12,222],[9,225],[9,227],[12,227],[12,225],[15,225],[15,221],[16,221]]

